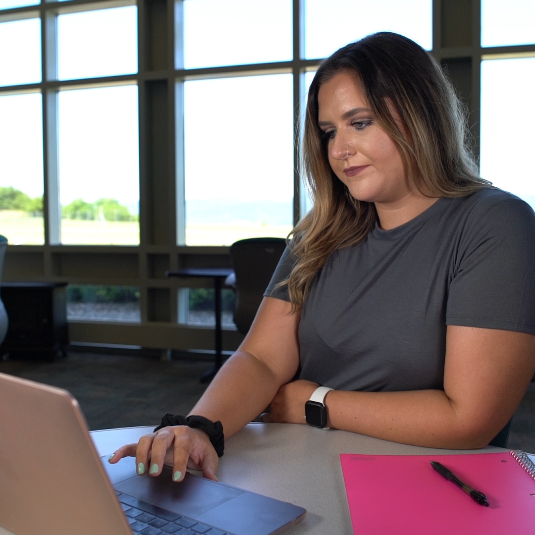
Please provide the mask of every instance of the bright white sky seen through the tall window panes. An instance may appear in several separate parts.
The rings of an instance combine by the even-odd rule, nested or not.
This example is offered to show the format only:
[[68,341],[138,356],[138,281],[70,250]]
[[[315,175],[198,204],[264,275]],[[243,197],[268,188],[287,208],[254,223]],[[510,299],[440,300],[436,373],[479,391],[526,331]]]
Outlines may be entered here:
[[[0,0],[0,9],[15,5],[28,2]],[[186,0],[184,66],[289,59],[291,5],[291,0]],[[535,41],[533,0],[482,0],[482,5],[484,46]],[[135,73],[136,17],[135,6],[60,15],[58,78]],[[400,32],[431,48],[429,0],[308,0],[305,21],[308,58],[377,30]],[[39,20],[0,22],[0,51],[1,86],[40,81]],[[534,62],[483,62],[481,165],[484,178],[535,200]],[[292,197],[289,75],[189,81],[184,95],[187,199]],[[135,207],[136,86],[62,91],[58,104],[60,201],[114,197]],[[0,117],[0,186],[42,195],[40,95],[0,96]]]

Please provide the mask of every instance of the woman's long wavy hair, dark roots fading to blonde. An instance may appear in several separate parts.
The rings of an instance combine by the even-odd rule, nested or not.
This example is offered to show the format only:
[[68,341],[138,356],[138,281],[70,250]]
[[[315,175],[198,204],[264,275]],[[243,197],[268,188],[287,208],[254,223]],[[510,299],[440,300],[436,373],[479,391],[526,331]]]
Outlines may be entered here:
[[[294,309],[302,307],[328,256],[363,241],[377,220],[375,205],[352,197],[332,171],[318,127],[319,88],[342,71],[360,79],[375,121],[398,146],[420,192],[460,197],[491,185],[479,177],[471,154],[464,105],[422,47],[402,35],[380,32],[334,52],[319,66],[308,93],[302,174],[312,209],[289,235],[294,267],[281,283],[288,285]],[[387,103],[398,111],[407,135]]]

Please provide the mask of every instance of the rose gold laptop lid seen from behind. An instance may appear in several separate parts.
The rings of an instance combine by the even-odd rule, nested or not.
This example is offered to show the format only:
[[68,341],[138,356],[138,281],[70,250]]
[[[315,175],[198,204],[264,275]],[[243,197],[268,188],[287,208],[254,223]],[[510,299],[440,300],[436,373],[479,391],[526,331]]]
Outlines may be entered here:
[[132,533],[78,402],[3,373],[0,526],[19,535]]

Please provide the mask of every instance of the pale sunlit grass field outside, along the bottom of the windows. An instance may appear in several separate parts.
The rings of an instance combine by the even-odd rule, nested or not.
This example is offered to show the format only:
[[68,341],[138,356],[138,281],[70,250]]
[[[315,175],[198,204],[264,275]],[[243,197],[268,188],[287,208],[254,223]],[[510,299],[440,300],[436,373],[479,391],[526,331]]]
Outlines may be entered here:
[[[188,245],[230,245],[244,238],[279,236],[286,238],[290,225],[226,224],[188,225]],[[13,245],[42,245],[44,230],[42,217],[30,217],[25,212],[0,210],[0,234]],[[63,219],[63,244],[81,245],[139,245],[139,224],[136,221],[86,221]]]

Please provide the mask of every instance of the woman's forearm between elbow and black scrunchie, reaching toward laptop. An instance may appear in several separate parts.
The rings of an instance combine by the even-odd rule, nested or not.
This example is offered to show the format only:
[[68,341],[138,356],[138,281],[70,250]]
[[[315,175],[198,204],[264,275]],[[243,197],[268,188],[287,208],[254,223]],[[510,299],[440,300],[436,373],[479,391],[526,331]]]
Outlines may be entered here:
[[238,350],[217,372],[190,414],[221,421],[228,438],[261,414],[280,386],[268,365]]

